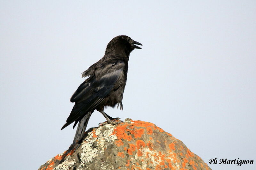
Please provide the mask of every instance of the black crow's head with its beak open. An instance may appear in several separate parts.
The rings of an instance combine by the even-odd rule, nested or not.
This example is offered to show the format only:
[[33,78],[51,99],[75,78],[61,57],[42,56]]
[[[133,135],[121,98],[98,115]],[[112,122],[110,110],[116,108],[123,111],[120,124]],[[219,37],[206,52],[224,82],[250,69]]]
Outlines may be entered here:
[[115,53],[115,54],[122,54],[125,53],[126,55],[130,55],[132,50],[135,48],[141,49],[136,45],[141,45],[139,42],[132,40],[130,37],[126,35],[119,35],[113,38],[107,45],[106,53]]

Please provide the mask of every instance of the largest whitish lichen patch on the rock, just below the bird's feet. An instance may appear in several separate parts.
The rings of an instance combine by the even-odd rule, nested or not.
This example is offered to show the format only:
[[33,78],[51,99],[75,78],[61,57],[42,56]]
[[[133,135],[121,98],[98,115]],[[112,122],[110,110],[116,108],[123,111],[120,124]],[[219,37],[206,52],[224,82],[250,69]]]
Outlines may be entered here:
[[[102,132],[101,129],[103,127],[106,130]],[[106,124],[88,133],[88,136],[80,146],[82,152],[80,154],[81,164],[78,170],[82,169],[87,162],[91,162],[99,153],[103,153],[107,147],[105,145],[106,142],[112,142],[117,139],[115,135],[111,135],[114,132],[114,128],[114,125]]]

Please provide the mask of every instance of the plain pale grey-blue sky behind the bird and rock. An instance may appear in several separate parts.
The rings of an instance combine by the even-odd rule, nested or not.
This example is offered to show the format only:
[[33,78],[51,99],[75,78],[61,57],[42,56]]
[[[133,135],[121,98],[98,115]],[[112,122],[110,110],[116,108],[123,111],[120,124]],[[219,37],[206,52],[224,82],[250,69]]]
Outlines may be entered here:
[[[68,149],[60,131],[81,73],[128,35],[124,110],[155,123],[208,163],[254,160],[256,1],[0,1],[0,169],[34,170]],[[105,118],[95,111],[88,127]]]

